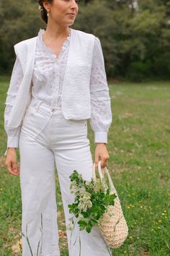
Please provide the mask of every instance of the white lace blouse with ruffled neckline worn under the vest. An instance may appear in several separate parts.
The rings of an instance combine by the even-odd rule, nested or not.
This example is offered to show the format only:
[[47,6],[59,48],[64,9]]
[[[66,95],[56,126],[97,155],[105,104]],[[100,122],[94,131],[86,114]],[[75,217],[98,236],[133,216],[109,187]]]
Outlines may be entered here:
[[[71,30],[63,43],[59,56],[45,45],[42,40],[44,29],[40,29],[37,35],[35,51],[35,67],[32,75],[32,98],[45,101],[50,106],[61,107],[61,92],[63,77],[68,57],[68,48],[71,38]],[[4,129],[7,134],[7,148],[19,148],[19,134],[22,124],[17,128],[7,127],[10,111],[22,82],[22,68],[19,59],[16,58],[12,70],[12,76],[7,91],[4,110]],[[107,76],[104,67],[104,56],[99,38],[95,37],[94,55],[91,67],[91,118],[89,123],[94,131],[94,142],[107,143],[107,133],[112,124],[111,98],[107,85]]]

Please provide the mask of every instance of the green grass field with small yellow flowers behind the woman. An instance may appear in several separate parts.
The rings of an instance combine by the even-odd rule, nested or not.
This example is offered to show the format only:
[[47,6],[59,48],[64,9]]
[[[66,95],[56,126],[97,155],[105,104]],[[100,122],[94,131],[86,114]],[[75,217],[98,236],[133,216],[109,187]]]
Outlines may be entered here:
[[[1,184],[0,255],[21,255],[21,197],[19,176],[4,166],[6,133],[4,101],[9,78],[0,78]],[[108,167],[122,202],[129,234],[112,255],[170,255],[170,82],[109,82],[112,126]],[[94,135],[89,127],[94,158]],[[18,165],[19,165],[19,152]],[[68,255],[58,176],[58,229],[61,256]]]

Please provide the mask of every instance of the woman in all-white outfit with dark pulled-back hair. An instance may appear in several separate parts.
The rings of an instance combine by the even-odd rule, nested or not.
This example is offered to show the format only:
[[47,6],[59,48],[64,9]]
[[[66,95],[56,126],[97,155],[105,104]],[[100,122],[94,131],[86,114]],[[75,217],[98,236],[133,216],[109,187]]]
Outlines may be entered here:
[[[40,255],[58,256],[55,167],[67,225],[68,204],[73,202],[70,174],[76,169],[86,180],[92,176],[87,120],[94,130],[94,162],[97,166],[101,158],[103,168],[109,158],[106,144],[112,112],[99,38],[69,27],[79,11],[78,1],[38,3],[46,30],[14,46],[17,58],[4,111],[5,163],[10,174],[20,176],[22,255],[30,256],[30,248],[35,255],[40,242]],[[69,255],[79,255],[79,226],[72,238],[66,231]],[[109,255],[97,227],[89,234],[80,231],[80,236],[81,256]],[[76,243],[70,244],[71,239]]]

